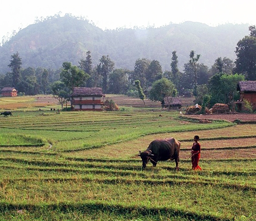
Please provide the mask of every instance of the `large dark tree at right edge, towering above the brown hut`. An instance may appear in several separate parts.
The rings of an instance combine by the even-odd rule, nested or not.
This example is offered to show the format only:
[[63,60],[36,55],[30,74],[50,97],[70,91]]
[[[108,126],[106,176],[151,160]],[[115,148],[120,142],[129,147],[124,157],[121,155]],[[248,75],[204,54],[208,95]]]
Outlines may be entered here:
[[235,72],[242,73],[247,80],[256,80],[256,27],[250,26],[250,35],[237,43]]

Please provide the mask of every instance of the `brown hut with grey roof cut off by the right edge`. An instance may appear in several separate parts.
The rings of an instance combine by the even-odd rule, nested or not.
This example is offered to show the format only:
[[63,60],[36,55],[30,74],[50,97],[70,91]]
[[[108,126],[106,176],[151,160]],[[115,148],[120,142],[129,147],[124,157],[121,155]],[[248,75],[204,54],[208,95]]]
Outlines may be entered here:
[[256,81],[239,81],[237,91],[240,93],[240,99],[236,102],[238,110],[243,110],[244,100],[252,104],[252,109],[256,110]]

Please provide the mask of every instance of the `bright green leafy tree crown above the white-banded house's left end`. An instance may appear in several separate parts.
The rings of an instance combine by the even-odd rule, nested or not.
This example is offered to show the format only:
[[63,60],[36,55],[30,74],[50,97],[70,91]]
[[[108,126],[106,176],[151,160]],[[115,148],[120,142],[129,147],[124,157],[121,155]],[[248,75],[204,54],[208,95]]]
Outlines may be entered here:
[[63,69],[60,73],[60,79],[71,90],[79,87],[89,78],[89,75],[77,66],[72,65],[71,62],[64,62]]

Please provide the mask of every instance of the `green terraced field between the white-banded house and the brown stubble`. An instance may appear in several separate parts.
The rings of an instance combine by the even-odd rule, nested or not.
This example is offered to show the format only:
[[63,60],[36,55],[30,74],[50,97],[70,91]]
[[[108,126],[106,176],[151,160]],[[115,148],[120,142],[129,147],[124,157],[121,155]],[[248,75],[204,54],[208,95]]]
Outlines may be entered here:
[[[174,114],[175,113],[175,114]],[[159,116],[161,114],[161,116]],[[74,151],[137,139],[149,134],[206,130],[232,126],[230,122],[212,124],[181,122],[176,112],[16,112],[1,118],[1,134],[25,134],[42,137],[53,151]],[[17,120],[19,123],[17,124]],[[4,145],[4,144],[3,144]]]

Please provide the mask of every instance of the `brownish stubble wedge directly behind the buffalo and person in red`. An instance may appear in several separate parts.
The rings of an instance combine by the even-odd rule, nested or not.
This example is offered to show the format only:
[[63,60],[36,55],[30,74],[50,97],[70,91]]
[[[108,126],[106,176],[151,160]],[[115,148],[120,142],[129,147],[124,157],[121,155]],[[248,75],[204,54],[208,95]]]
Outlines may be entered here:
[[[243,150],[247,154],[239,158],[253,158],[256,148],[256,124],[236,125],[222,129],[214,130],[198,130],[185,132],[172,132],[151,134],[140,137],[136,140],[126,141],[114,145],[106,145],[100,149],[85,150],[82,152],[74,152],[73,156],[99,157],[99,158],[137,158],[139,150],[144,151],[151,141],[155,139],[163,139],[165,137],[175,137],[181,141],[181,160],[187,159],[193,144],[194,135],[201,137],[202,157],[205,159],[231,159],[236,158],[239,151]],[[239,136],[239,138],[237,138]],[[207,140],[210,139],[210,140]],[[189,141],[190,140],[190,141]],[[215,151],[212,149],[220,149]],[[230,148],[230,150],[228,150]],[[188,150],[186,150],[188,149]],[[209,151],[207,150],[209,149]],[[227,150],[226,150],[227,149]],[[225,152],[227,151],[227,154]],[[252,152],[250,156],[248,153]],[[217,154],[219,153],[219,155]]]

